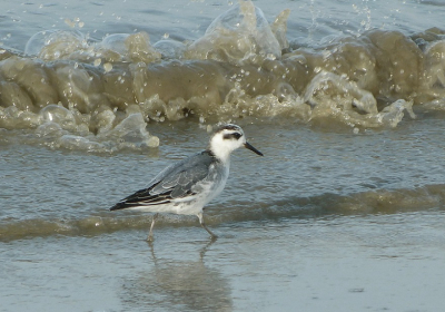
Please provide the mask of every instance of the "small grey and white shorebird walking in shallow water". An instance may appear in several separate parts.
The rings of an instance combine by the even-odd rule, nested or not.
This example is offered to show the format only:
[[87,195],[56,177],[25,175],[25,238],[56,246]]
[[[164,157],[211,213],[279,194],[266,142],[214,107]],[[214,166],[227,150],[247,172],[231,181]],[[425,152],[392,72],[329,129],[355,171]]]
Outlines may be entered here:
[[202,207],[222,192],[229,175],[230,153],[241,146],[263,156],[261,152],[247,143],[239,126],[224,125],[212,134],[206,150],[168,166],[147,188],[123,198],[110,211],[155,213],[147,241],[154,238],[152,231],[158,213],[197,215],[201,226],[211,238],[216,238],[204,223]]

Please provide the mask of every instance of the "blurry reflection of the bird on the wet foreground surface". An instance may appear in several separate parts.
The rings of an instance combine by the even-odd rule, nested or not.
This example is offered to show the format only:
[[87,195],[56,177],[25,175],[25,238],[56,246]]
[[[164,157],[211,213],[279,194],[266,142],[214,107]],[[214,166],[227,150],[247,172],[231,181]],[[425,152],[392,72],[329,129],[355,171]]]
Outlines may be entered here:
[[[233,311],[228,279],[205,264],[205,254],[216,240],[199,250],[198,260],[179,252],[176,260],[157,259],[149,243],[154,266],[123,282],[122,304],[128,311]],[[196,252],[196,251],[195,251]]]

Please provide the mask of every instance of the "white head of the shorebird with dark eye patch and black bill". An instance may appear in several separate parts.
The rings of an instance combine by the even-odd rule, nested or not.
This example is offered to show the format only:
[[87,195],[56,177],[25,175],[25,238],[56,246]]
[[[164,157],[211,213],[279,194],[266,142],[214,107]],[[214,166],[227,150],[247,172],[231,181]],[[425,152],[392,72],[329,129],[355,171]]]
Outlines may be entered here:
[[254,153],[263,156],[263,153],[247,143],[246,136],[241,127],[233,124],[227,124],[219,127],[210,138],[209,149],[221,162],[226,163],[230,153],[235,149],[245,146]]

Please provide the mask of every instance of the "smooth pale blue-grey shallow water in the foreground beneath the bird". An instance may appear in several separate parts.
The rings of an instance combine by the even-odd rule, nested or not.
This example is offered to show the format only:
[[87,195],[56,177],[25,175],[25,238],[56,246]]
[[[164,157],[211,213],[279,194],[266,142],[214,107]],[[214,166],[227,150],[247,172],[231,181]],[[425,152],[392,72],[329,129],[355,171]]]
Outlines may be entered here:
[[437,211],[6,243],[2,311],[438,311]]

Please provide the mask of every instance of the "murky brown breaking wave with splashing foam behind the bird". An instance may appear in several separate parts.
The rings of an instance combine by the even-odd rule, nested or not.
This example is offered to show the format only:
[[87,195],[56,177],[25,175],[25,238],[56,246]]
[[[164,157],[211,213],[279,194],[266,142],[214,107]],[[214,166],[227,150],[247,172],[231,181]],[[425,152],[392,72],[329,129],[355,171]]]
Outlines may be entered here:
[[[41,31],[0,53],[0,128],[51,148],[157,147],[149,124],[287,117],[394,128],[415,107],[445,107],[445,32],[367,30],[317,46],[286,36],[251,1],[217,17],[192,42],[79,30]],[[27,131],[27,134],[29,134]]]

